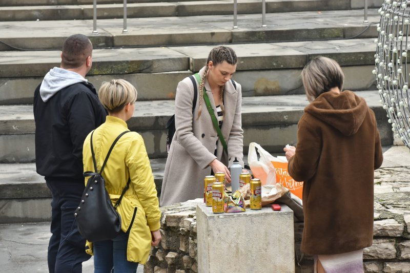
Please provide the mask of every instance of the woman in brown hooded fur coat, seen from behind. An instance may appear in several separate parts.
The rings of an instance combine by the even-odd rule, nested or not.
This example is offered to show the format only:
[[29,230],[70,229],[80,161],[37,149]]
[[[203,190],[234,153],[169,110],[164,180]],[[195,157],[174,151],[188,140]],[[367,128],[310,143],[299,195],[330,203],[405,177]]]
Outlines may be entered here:
[[363,272],[373,242],[374,170],[383,161],[373,111],[343,91],[335,60],[318,57],[302,71],[311,102],[298,123],[297,148],[284,148],[289,174],[304,181],[301,250],[315,272]]

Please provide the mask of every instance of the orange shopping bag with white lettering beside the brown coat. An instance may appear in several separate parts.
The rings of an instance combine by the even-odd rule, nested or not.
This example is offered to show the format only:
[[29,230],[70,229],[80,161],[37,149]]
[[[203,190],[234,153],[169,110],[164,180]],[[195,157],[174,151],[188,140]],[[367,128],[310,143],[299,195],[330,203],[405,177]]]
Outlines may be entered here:
[[286,157],[278,156],[276,159],[271,160],[271,163],[275,168],[276,182],[289,188],[291,193],[302,199],[303,182],[297,182],[289,175]]

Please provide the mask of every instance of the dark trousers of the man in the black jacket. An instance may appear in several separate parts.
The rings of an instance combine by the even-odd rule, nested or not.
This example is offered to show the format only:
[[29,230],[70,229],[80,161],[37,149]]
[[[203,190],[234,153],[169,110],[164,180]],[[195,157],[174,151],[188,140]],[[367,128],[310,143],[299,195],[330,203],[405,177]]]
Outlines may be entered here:
[[50,273],[81,273],[83,262],[91,258],[85,251],[86,240],[79,234],[74,218],[81,201],[84,181],[46,179],[52,194],[51,238],[48,245]]

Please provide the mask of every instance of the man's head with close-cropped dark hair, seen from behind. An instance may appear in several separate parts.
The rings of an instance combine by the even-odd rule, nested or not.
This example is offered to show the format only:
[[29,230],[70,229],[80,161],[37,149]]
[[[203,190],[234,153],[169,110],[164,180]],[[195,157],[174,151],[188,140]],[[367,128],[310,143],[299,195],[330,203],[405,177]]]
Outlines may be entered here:
[[84,64],[88,56],[92,55],[93,45],[90,39],[83,34],[68,37],[63,44],[61,54],[62,68],[78,68]]

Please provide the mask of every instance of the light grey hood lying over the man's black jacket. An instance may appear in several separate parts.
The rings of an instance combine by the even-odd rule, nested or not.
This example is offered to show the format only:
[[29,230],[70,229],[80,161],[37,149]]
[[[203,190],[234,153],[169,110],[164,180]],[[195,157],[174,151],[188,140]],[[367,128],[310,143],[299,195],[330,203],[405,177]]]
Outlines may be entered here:
[[54,67],[43,79],[40,96],[44,102],[47,102],[61,89],[83,81],[87,82],[87,79],[76,72]]

